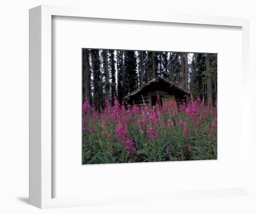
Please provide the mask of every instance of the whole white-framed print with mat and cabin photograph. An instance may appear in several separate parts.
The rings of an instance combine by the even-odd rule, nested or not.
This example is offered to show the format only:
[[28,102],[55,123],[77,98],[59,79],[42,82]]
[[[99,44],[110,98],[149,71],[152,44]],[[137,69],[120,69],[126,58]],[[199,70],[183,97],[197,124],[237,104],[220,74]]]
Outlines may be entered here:
[[29,29],[31,205],[250,194],[248,19],[38,6]]

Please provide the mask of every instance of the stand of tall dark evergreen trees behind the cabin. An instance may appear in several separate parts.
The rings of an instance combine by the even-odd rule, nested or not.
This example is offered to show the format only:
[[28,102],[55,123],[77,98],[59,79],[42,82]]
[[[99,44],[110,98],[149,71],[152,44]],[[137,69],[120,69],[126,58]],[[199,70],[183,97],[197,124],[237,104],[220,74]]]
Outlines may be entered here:
[[95,110],[105,107],[105,99],[114,104],[117,97],[121,104],[157,75],[189,89],[205,105],[217,101],[217,54],[82,49],[82,75],[83,102]]

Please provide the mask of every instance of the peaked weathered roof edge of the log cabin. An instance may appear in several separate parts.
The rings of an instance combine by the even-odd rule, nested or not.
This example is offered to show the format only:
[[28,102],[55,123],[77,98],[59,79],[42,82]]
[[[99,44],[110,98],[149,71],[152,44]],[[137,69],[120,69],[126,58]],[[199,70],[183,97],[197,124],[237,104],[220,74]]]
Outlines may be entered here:
[[142,91],[143,89],[146,89],[151,84],[157,83],[157,82],[162,82],[164,84],[169,84],[169,86],[174,88],[176,91],[180,91],[180,92],[182,92],[184,94],[187,94],[187,95],[190,94],[189,91],[184,90],[182,87],[179,87],[177,84],[169,81],[168,79],[163,78],[161,76],[157,76],[157,78],[148,81],[148,83],[143,84],[140,88],[138,88],[135,91],[132,91],[131,93],[129,93],[126,97],[124,97],[124,99],[127,99],[128,97],[131,97],[131,96],[137,94],[138,92]]

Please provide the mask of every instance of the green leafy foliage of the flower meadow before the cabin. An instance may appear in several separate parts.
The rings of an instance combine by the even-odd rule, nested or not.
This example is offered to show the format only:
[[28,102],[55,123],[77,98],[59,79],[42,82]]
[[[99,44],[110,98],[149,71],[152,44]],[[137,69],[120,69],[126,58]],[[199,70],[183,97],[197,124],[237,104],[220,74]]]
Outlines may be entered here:
[[[94,130],[85,129],[83,133],[83,164],[124,163],[130,162],[135,156],[132,162],[217,159],[216,108],[200,109],[193,118],[184,110],[162,111],[157,124],[148,121],[145,126],[138,126],[145,115],[126,114],[130,117],[128,138],[133,139],[136,153],[129,155],[125,145],[120,143],[115,120],[110,119],[106,123],[104,117],[88,117],[86,126],[94,127]],[[187,125],[188,132],[183,124]],[[150,127],[156,131],[155,138],[148,136]]]

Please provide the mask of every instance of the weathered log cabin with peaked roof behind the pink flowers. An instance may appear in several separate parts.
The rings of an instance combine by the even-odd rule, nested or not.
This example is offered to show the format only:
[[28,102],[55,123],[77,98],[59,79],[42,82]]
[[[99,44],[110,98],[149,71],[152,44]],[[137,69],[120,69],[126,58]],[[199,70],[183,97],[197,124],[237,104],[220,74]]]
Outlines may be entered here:
[[133,104],[139,107],[154,107],[157,102],[157,95],[160,96],[161,105],[173,101],[177,103],[177,106],[180,106],[186,103],[190,93],[177,84],[161,76],[157,76],[157,78],[150,80],[148,83],[124,97],[124,104],[126,104],[127,107]]

